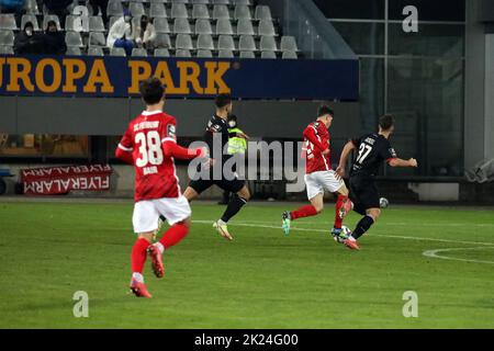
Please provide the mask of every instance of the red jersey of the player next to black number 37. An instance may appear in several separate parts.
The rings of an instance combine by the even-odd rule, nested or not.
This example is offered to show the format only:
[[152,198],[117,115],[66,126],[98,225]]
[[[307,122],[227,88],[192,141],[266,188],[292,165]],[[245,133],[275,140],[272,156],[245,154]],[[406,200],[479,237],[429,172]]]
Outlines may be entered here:
[[328,171],[332,169],[330,152],[322,152],[329,149],[329,132],[324,123],[313,122],[304,129],[305,173]]

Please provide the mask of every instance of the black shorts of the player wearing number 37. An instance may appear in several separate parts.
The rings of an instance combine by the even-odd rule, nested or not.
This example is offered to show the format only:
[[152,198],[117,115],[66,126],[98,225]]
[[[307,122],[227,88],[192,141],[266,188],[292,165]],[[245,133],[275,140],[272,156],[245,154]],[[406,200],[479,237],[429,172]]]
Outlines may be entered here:
[[353,211],[364,215],[366,210],[379,208],[379,191],[374,179],[369,176],[350,177],[350,200],[353,202]]

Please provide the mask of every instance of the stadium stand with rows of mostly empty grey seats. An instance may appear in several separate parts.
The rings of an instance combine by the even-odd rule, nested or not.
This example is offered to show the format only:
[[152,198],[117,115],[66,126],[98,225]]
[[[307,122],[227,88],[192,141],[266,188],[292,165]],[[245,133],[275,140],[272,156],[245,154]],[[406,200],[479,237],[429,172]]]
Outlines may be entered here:
[[272,53],[278,58],[302,56],[295,37],[283,36],[271,9],[251,0],[109,0],[104,8],[102,11],[101,4],[74,0],[66,8],[67,15],[60,16],[43,0],[26,0],[21,21],[11,13],[0,14],[0,45],[5,46],[3,52],[10,52],[11,32],[15,36],[26,22],[33,23],[34,31],[44,31],[53,20],[65,34],[69,55],[100,55],[94,47],[101,47],[103,55],[115,56],[121,50],[104,48],[103,37],[128,11],[133,27],[139,24],[142,15],[148,15],[155,26],[155,46],[146,48],[147,56],[260,58],[272,57]]

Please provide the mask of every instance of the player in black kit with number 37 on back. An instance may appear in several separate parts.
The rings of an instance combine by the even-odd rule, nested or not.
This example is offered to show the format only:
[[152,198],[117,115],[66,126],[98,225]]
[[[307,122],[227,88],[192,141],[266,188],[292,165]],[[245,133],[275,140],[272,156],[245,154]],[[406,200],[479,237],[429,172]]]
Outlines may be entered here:
[[358,155],[350,169],[350,199],[353,202],[353,211],[362,215],[353,233],[345,240],[345,245],[353,250],[359,250],[357,239],[360,238],[378,220],[381,215],[379,205],[379,192],[374,178],[379,166],[386,161],[391,167],[417,167],[417,160],[411,158],[403,160],[397,158],[390,144],[390,136],[394,132],[394,118],[384,115],[379,120],[379,133],[366,134],[360,138],[348,141],[336,171],[345,177],[345,165],[351,150],[357,149]]

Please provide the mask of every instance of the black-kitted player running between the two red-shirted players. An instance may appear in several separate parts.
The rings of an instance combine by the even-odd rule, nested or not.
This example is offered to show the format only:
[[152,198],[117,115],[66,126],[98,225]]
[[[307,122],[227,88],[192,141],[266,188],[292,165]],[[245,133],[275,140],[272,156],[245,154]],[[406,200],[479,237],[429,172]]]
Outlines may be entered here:
[[[192,201],[199,196],[203,191],[216,184],[223,190],[227,190],[236,195],[232,196],[226,206],[223,216],[214,222],[213,227],[220,233],[220,235],[228,240],[233,240],[232,235],[228,233],[227,223],[235,216],[240,208],[249,201],[250,193],[246,185],[245,180],[238,179],[238,174],[229,169],[224,169],[224,163],[232,157],[226,152],[225,146],[228,144],[229,137],[243,137],[248,139],[248,136],[244,133],[229,133],[228,132],[228,115],[232,113],[233,103],[232,97],[226,93],[218,94],[215,99],[216,113],[207,122],[206,131],[204,133],[204,141],[210,148],[212,155],[212,162],[206,179],[191,180],[189,186],[186,189],[183,196],[187,200]],[[220,141],[222,155],[213,155],[214,139]],[[216,146],[217,147],[217,146]],[[201,165],[204,167],[204,165]],[[220,172],[214,172],[214,168],[221,168]],[[201,171],[201,169],[199,169]],[[218,179],[215,179],[216,173]]]

